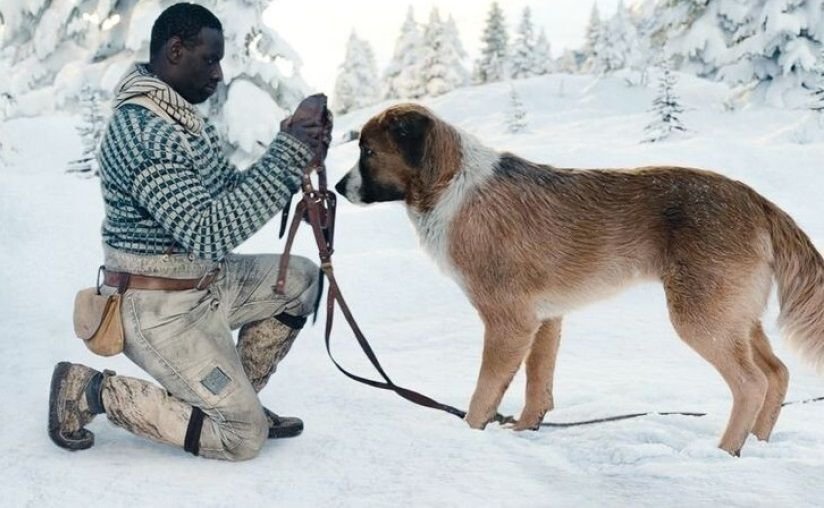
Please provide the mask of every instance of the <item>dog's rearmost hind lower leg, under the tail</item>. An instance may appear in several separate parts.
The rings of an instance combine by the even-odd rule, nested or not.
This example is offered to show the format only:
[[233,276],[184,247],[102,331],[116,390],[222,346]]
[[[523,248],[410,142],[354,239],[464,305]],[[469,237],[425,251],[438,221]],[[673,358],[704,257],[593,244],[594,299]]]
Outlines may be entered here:
[[775,422],[778,420],[778,415],[781,413],[781,404],[783,404],[784,397],[787,395],[790,374],[787,367],[773,353],[760,322],[753,326],[750,337],[753,346],[753,359],[761,371],[764,372],[764,375],[767,376],[767,395],[755,420],[752,433],[758,439],[766,441],[770,438]]

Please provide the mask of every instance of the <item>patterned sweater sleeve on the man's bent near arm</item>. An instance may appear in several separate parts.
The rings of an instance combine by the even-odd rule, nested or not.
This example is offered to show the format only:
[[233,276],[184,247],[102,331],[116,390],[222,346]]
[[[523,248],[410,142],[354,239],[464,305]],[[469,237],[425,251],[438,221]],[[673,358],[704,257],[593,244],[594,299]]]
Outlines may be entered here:
[[125,154],[134,175],[132,195],[186,250],[212,260],[222,259],[283,209],[312,158],[304,144],[279,133],[260,160],[245,171],[233,168],[232,185],[212,195],[198,165],[217,161],[194,156],[179,130],[149,122],[139,139]]

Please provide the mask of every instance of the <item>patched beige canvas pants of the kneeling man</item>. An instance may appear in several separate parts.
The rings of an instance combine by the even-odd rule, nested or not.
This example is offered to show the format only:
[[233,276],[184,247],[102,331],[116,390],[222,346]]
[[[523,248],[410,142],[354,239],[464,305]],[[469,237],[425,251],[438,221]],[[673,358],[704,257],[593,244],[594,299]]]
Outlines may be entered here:
[[[288,336],[288,343],[273,343],[267,358],[244,355],[241,360],[232,330],[284,312],[311,313],[318,291],[317,266],[291,256],[285,294],[277,295],[273,288],[278,255],[230,254],[214,263],[187,255],[142,256],[109,247],[104,251],[106,267],[114,271],[189,279],[220,269],[217,279],[203,289],[126,291],[124,353],[162,388],[126,376],[108,378],[103,404],[109,420],[137,435],[183,447],[197,407],[205,415],[200,456],[244,460],[257,455],[267,438],[268,422],[257,397],[256,388],[262,386],[252,386],[245,368],[260,371],[261,366],[243,362],[269,362],[263,370],[272,372],[296,334]],[[114,288],[104,286],[103,291]]]

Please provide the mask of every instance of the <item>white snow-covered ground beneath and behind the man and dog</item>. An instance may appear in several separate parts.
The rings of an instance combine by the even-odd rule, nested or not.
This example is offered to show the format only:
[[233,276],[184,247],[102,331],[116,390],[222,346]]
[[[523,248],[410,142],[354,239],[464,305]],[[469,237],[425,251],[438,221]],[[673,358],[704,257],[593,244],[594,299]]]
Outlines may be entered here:
[[[681,76],[691,133],[640,144],[653,91],[620,78],[553,75],[515,84],[529,128],[503,134],[509,85],[459,90],[428,101],[487,144],[570,167],[680,164],[740,179],[787,210],[824,249],[824,143],[798,144],[803,113],[723,107],[726,89]],[[336,135],[382,106],[337,119]],[[110,425],[91,424],[95,446],[69,453],[46,434],[49,377],[71,360],[142,376],[124,357],[102,359],[73,337],[76,289],[93,283],[102,217],[96,179],[63,172],[80,154],[73,117],[0,127],[0,492],[4,506],[821,506],[824,403],[787,407],[769,443],[750,439],[741,458],[715,445],[730,396],[719,375],[676,337],[662,290],[630,289],[571,314],[556,374],[552,421],[638,411],[705,411],[703,418],[647,416],[573,429],[470,430],[457,418],[356,384],[326,358],[322,327],[308,328],[261,397],[306,430],[270,441],[245,463],[199,460]],[[10,150],[11,148],[11,150]],[[335,181],[356,143],[329,159]],[[465,407],[480,363],[481,324],[458,288],[417,245],[399,205],[341,203],[336,272],[393,379]],[[242,252],[277,251],[275,225]],[[309,230],[296,252],[314,256]],[[824,379],[785,348],[775,301],[765,324],[791,371],[788,399],[824,395]],[[321,316],[321,319],[323,316]],[[334,350],[372,376],[338,319]],[[517,413],[516,377],[502,412]]]

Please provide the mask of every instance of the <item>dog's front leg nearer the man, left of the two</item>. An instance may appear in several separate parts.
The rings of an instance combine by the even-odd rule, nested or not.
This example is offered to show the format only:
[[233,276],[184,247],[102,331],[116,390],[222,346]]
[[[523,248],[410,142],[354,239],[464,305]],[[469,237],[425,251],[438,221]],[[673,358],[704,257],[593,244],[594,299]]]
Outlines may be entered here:
[[478,384],[469,403],[466,422],[473,429],[483,429],[495,416],[501,398],[515,372],[523,362],[538,324],[532,320],[517,321],[512,316],[488,316],[484,353]]

